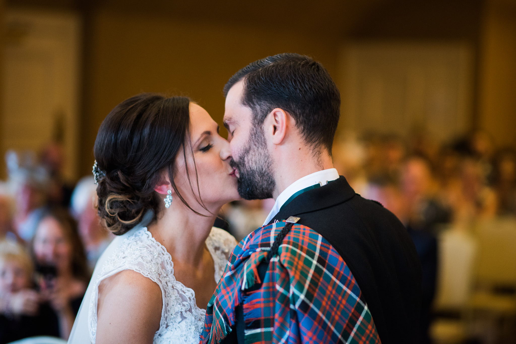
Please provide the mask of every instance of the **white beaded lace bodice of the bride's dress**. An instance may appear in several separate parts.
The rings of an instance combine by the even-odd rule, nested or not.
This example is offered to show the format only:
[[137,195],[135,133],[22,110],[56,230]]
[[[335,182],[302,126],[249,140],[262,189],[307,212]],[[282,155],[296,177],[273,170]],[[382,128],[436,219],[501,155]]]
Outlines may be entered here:
[[[95,343],[96,336],[99,283],[117,272],[130,269],[157,283],[162,291],[162,317],[159,330],[154,335],[154,344],[198,343],[206,310],[197,307],[193,290],[175,279],[170,254],[152,237],[147,227],[125,235],[104,265],[98,267],[101,270],[92,289],[88,314],[91,342]],[[235,238],[228,232],[217,227],[212,228],[206,239],[206,247],[215,263],[216,282],[224,272],[229,254],[235,245]]]

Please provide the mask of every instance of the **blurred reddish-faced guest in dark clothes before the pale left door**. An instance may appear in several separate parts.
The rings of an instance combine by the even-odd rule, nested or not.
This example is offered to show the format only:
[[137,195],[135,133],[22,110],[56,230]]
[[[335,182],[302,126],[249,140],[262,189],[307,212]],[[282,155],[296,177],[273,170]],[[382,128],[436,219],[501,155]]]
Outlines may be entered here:
[[52,205],[68,207],[73,187],[65,182],[62,175],[65,152],[62,144],[52,141],[40,152],[40,163],[49,173],[48,201]]

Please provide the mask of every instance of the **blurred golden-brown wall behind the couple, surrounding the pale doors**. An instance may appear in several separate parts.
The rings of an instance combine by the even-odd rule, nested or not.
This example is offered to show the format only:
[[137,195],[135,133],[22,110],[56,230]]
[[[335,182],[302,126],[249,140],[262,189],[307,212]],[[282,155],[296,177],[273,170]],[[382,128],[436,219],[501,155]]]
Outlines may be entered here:
[[474,92],[468,126],[487,129],[498,144],[515,143],[516,0],[5,2],[9,8],[73,11],[84,22],[77,177],[90,173],[96,131],[126,97],[186,94],[220,123],[222,86],[239,68],[297,52],[322,62],[342,86],[339,61],[349,41],[469,44]]

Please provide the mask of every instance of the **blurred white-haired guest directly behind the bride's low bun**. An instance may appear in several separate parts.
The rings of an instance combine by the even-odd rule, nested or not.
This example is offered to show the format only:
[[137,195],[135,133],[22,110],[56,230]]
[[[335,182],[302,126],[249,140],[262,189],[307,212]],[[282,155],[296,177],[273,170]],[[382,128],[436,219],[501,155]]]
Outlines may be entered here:
[[71,199],[72,214],[77,220],[80,238],[86,250],[88,267],[93,271],[96,261],[111,242],[112,235],[102,226],[97,204],[96,184],[93,177],[84,177],[75,186]]

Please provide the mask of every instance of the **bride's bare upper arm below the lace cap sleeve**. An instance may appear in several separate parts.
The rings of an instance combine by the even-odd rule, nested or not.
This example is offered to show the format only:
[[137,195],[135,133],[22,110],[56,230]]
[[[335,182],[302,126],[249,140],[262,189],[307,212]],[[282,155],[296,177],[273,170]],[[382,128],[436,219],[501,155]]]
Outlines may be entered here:
[[133,270],[106,277],[99,284],[96,344],[152,343],[162,307],[162,291],[148,277]]

